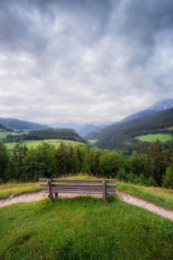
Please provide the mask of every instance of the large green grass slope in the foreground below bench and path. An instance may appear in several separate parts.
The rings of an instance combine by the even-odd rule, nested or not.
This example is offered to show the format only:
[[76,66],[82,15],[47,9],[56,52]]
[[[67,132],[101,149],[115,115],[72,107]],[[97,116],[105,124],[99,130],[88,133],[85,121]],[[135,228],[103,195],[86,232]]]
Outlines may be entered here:
[[0,209],[0,259],[172,259],[173,225],[110,196]]

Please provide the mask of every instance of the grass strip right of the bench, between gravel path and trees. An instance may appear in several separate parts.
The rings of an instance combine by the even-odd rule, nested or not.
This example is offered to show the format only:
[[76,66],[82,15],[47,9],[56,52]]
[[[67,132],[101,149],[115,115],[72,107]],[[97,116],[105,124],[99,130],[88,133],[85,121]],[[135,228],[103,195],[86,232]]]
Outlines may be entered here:
[[173,190],[164,189],[161,187],[145,187],[131,183],[117,184],[118,190],[124,190],[129,194],[138,198],[143,198],[161,207],[166,207],[173,210]]

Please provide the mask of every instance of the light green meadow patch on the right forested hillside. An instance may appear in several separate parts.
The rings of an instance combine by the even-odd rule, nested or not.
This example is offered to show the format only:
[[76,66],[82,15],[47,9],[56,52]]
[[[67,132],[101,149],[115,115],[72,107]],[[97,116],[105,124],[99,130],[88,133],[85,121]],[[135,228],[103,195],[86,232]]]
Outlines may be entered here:
[[135,137],[135,139],[142,141],[142,142],[155,142],[157,138],[161,142],[167,142],[172,140],[172,135],[170,133],[156,133],[156,134],[150,134],[150,135],[139,135]]

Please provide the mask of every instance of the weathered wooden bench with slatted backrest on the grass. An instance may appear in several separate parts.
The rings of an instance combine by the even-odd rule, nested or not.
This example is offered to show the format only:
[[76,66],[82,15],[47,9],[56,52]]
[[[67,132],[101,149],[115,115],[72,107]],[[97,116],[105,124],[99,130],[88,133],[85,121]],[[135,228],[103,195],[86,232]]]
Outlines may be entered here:
[[39,179],[39,181],[44,187],[42,192],[49,193],[51,201],[53,193],[55,197],[58,193],[103,194],[103,200],[107,200],[108,194],[116,193],[114,179]]

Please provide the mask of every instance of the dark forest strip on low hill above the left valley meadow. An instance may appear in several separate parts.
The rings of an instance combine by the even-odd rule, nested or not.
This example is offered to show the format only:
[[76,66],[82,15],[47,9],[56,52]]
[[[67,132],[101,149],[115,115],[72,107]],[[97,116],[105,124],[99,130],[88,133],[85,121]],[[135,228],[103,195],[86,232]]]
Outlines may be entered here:
[[85,142],[80,135],[73,129],[57,128],[29,131],[22,135],[7,135],[5,142],[22,142],[23,140],[46,140],[46,139],[64,139],[78,142]]

